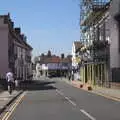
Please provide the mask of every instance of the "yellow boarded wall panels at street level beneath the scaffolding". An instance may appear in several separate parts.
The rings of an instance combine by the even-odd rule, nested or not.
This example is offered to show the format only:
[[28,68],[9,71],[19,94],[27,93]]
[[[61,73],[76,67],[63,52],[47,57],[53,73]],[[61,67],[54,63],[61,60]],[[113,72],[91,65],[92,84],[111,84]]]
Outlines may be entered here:
[[[95,66],[97,66],[95,68]],[[85,83],[85,66],[80,68],[81,81]],[[108,80],[108,70],[105,63],[87,65],[87,83],[94,86]]]

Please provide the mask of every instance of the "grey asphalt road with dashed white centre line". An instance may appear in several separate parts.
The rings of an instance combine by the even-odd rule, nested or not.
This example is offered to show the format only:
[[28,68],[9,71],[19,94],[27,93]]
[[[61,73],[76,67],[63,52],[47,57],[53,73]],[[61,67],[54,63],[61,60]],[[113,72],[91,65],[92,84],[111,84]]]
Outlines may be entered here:
[[36,81],[27,86],[9,120],[120,120],[120,102],[77,89],[65,82]]

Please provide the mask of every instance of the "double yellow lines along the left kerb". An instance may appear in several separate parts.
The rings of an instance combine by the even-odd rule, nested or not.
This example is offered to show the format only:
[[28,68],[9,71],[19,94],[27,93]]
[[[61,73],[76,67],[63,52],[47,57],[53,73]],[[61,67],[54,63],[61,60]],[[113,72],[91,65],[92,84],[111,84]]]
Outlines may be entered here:
[[7,111],[7,113],[3,116],[2,120],[8,120],[8,118],[12,115],[18,104],[22,101],[24,96],[26,95],[26,92],[24,92],[17,100],[16,102],[10,107],[10,109]]

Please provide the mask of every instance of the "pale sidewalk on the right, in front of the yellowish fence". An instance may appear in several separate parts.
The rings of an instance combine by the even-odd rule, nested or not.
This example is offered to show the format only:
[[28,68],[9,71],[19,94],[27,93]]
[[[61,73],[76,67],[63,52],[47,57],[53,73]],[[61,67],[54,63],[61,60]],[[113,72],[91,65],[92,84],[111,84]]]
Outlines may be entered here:
[[[66,83],[73,85],[74,87],[77,87],[77,88],[80,88],[80,85],[82,84],[80,81],[69,81],[68,79],[65,79],[65,78],[62,80],[65,81]],[[80,89],[88,91],[87,86],[83,86]],[[92,90],[90,92],[110,98],[110,99],[120,101],[120,89],[104,88],[104,87],[96,86],[96,87],[92,88]]]

